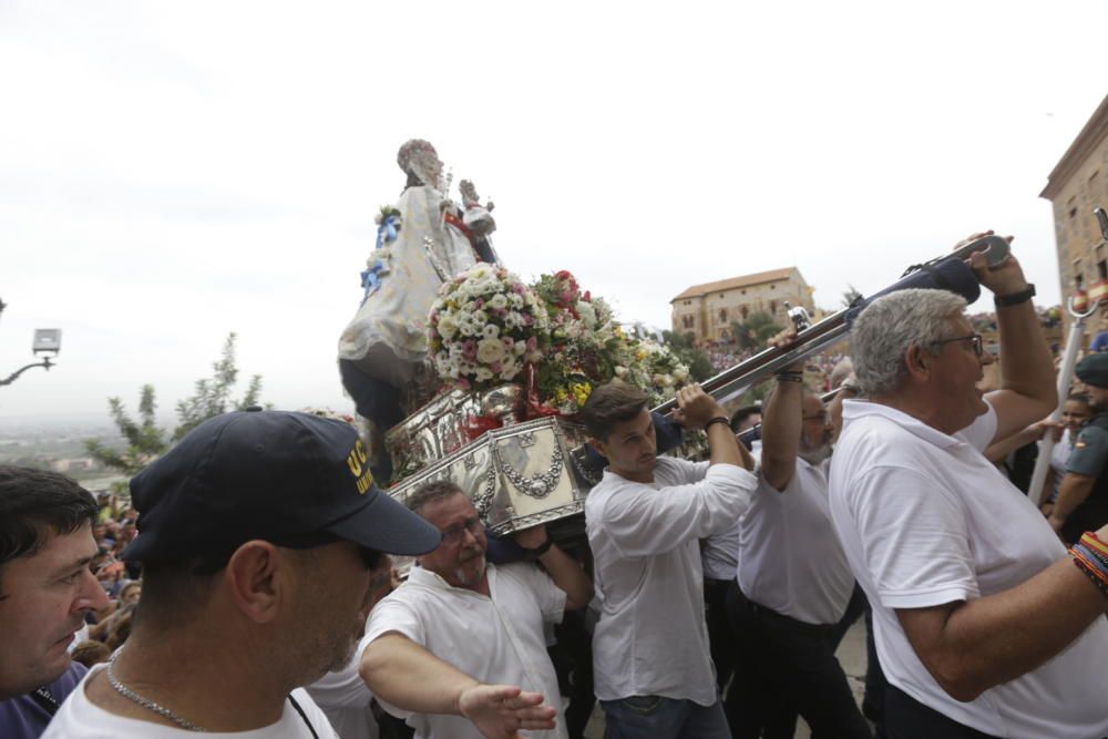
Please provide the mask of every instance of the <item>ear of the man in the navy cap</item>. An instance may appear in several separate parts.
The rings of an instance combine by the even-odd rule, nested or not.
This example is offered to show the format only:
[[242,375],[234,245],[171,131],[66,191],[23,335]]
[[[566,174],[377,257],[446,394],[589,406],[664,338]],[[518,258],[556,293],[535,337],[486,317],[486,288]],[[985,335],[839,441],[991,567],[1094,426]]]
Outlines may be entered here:
[[277,617],[293,575],[287,557],[273,544],[250,541],[239,546],[224,571],[224,584],[238,610],[257,624]]

